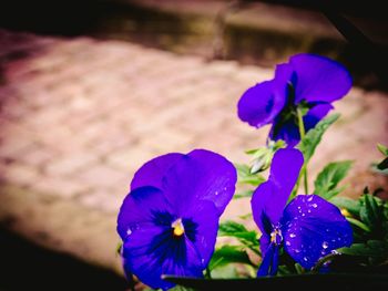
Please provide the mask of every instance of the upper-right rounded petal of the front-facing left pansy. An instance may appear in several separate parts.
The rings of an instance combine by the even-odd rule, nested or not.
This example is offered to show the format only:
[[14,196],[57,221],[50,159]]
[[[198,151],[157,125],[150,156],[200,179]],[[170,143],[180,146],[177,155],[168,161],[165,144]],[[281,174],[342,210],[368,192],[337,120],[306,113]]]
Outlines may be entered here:
[[212,201],[221,216],[231,201],[237,173],[219,154],[195,149],[178,159],[163,179],[163,190],[181,214],[190,212],[201,200]]

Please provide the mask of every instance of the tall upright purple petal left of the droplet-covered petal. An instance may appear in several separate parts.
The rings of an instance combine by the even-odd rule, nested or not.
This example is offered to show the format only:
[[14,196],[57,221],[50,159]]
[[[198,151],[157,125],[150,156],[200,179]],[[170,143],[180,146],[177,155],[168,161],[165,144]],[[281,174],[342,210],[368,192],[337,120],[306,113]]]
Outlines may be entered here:
[[272,226],[279,222],[303,163],[303,154],[298,149],[280,148],[275,153],[268,180],[257,187],[251,200],[254,220],[262,232],[269,235],[266,220]]

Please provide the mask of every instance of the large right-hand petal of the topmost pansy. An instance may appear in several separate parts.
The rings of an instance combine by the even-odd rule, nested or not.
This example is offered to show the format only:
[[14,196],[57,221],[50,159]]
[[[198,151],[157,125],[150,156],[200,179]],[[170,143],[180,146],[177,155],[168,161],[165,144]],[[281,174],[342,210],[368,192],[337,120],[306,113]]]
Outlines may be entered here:
[[297,75],[296,104],[307,102],[327,102],[344,97],[351,89],[351,76],[344,65],[328,58],[302,53],[290,58]]

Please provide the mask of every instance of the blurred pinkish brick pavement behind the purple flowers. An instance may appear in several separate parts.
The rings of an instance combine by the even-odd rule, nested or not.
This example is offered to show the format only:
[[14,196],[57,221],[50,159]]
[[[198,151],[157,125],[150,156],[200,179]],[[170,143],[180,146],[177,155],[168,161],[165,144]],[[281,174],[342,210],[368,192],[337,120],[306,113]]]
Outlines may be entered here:
[[[236,104],[273,70],[204,61],[129,42],[0,30],[0,220],[34,241],[121,274],[115,220],[134,172],[194,148],[231,162],[264,145],[268,127],[242,123]],[[355,159],[344,195],[387,186],[370,172],[388,144],[387,93],[354,87],[310,162]],[[249,212],[234,200],[223,219]]]

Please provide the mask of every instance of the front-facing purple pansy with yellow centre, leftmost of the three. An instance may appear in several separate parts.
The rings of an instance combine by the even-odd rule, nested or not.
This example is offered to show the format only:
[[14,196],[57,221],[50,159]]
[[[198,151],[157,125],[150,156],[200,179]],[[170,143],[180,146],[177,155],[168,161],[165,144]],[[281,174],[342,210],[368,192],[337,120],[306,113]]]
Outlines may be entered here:
[[118,217],[125,272],[163,290],[174,284],[162,274],[203,277],[236,179],[231,162],[205,149],[144,164]]

